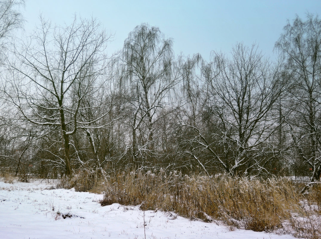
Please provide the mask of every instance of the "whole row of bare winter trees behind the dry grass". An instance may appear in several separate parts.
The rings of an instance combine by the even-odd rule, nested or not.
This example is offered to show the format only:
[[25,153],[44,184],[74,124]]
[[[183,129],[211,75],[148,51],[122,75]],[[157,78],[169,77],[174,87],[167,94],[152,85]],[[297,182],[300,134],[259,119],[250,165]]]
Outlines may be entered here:
[[0,35],[0,164],[16,175],[133,166],[320,178],[318,17],[287,23],[277,61],[237,43],[230,56],[213,52],[207,62],[176,56],[172,39],[146,23],[115,55],[107,55],[111,35],[95,19],[67,26],[42,19],[12,46],[23,2],[4,2],[14,5],[1,13],[16,18],[8,29],[0,19],[8,33]]

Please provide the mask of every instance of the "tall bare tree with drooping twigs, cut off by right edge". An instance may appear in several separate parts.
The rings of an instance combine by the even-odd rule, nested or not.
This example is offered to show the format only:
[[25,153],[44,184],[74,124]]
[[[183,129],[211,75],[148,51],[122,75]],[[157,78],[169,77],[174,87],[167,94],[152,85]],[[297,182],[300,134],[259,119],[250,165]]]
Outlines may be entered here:
[[321,20],[309,15],[284,27],[275,43],[284,56],[293,87],[286,118],[298,158],[312,168],[311,183],[321,174]]

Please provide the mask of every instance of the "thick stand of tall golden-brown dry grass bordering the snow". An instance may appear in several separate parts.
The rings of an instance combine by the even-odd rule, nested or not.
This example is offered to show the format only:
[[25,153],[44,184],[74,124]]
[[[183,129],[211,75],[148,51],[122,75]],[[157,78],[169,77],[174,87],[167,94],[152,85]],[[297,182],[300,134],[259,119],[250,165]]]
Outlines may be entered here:
[[187,218],[223,220],[231,228],[321,237],[321,188],[307,196],[286,178],[258,179],[181,175],[178,172],[113,173],[102,205],[141,205]]

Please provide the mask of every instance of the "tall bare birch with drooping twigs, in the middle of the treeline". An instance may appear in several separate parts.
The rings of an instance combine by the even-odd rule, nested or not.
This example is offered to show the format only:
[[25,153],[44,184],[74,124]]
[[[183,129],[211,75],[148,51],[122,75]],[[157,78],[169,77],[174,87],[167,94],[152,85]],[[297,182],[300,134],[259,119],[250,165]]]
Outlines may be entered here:
[[139,157],[141,160],[147,156],[152,158],[155,117],[159,108],[165,106],[169,91],[178,83],[172,39],[165,39],[158,28],[143,23],[125,40],[122,60],[133,109],[132,155],[135,161]]

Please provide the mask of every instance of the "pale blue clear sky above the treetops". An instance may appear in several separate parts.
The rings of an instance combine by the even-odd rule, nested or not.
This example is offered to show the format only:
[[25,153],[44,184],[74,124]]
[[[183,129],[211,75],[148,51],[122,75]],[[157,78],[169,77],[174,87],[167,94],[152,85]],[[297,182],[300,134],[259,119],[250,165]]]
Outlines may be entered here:
[[[253,42],[272,58],[282,28],[298,14],[321,15],[321,0],[26,0],[26,34],[39,25],[39,14],[53,24],[72,23],[74,14],[93,16],[115,34],[109,53],[120,49],[136,25],[147,22],[174,39],[178,55],[200,53],[210,59],[212,50],[230,52],[236,42]],[[320,17],[320,16],[319,16]]]

